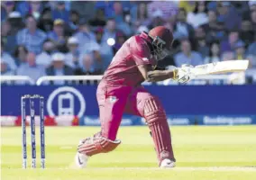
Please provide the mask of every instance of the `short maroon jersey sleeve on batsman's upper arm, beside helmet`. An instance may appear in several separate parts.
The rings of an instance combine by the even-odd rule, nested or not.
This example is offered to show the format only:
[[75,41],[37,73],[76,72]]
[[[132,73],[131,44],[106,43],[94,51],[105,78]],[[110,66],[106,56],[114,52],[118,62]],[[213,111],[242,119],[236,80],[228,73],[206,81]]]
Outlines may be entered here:
[[132,56],[136,65],[155,65],[151,55],[150,48],[146,42],[135,43],[132,50]]

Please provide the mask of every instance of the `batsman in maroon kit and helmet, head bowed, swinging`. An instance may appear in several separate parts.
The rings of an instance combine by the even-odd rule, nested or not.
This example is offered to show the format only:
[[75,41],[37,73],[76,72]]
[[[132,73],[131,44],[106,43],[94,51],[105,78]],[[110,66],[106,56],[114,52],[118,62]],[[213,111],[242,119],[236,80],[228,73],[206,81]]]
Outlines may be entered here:
[[107,153],[120,145],[116,139],[123,113],[143,117],[150,130],[160,167],[174,167],[169,124],[158,97],[150,94],[143,81],[158,82],[172,78],[179,83],[189,81],[191,67],[154,70],[157,62],[169,55],[172,32],[164,26],[142,32],[126,40],[115,54],[97,87],[101,130],[78,144],[75,161],[78,167],[87,165],[88,157]]

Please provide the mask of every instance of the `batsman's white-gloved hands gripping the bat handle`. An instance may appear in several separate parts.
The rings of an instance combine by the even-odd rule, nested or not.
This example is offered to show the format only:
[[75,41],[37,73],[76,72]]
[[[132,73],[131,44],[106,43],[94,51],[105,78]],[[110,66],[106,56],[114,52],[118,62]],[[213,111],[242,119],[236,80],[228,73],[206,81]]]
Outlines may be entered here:
[[188,81],[190,81],[195,77],[191,72],[192,68],[193,66],[185,64],[185,65],[182,65],[181,67],[174,69],[173,80],[181,84],[187,83]]

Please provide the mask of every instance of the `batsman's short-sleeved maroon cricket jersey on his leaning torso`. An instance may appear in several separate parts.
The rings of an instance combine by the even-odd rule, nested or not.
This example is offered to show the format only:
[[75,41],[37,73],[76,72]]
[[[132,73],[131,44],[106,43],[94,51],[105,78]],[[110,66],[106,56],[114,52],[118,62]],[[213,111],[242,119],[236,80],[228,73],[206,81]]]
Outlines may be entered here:
[[139,65],[156,65],[145,32],[135,35],[123,43],[106,69],[104,81],[107,85],[141,85],[144,78],[138,69]]

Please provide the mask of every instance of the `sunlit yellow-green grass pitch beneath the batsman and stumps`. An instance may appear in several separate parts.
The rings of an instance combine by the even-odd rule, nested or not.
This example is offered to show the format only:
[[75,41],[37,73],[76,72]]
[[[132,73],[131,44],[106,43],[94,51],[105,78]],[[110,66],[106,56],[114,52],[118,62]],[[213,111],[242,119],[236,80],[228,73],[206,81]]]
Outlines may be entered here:
[[[147,127],[122,127],[122,145],[89,159],[86,169],[74,168],[78,140],[99,128],[46,127],[46,169],[22,169],[21,128],[1,128],[1,179],[169,179],[255,180],[256,126],[171,127],[177,167],[157,168]],[[30,130],[28,143],[30,145]],[[37,132],[37,145],[39,130]],[[37,147],[37,166],[40,148]],[[29,166],[31,147],[28,146]]]

